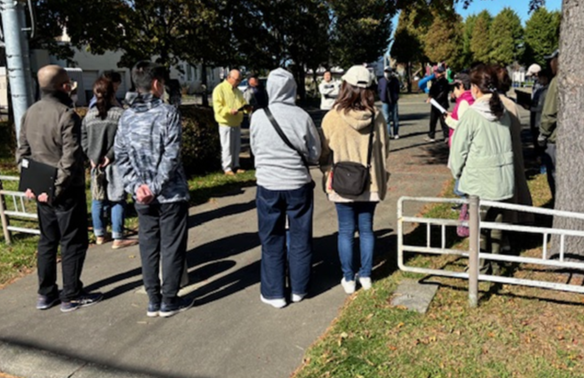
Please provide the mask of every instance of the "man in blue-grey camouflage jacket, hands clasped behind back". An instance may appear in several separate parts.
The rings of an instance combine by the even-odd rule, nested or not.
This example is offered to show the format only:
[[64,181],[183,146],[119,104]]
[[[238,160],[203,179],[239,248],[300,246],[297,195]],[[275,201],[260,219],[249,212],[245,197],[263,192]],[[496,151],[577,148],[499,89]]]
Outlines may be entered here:
[[161,100],[165,77],[164,68],[154,63],[142,61],[134,66],[132,80],[138,96],[122,115],[114,144],[125,190],[136,200],[149,317],[172,316],[193,304],[178,297],[186,257],[189,194],[180,159],[180,115]]

